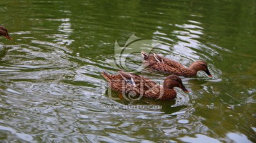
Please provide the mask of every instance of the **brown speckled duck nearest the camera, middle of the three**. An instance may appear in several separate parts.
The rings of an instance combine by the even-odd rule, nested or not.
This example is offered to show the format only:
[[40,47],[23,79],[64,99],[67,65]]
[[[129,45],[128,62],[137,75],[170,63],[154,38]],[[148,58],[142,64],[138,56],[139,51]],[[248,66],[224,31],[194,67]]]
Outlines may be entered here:
[[183,91],[188,92],[183,85],[181,78],[176,75],[167,76],[164,79],[163,86],[144,76],[125,71],[118,71],[118,74],[107,74],[103,71],[102,76],[107,80],[108,85],[112,90],[118,91],[123,95],[132,94],[133,96],[156,100],[173,100],[177,95],[174,87],[181,88]]

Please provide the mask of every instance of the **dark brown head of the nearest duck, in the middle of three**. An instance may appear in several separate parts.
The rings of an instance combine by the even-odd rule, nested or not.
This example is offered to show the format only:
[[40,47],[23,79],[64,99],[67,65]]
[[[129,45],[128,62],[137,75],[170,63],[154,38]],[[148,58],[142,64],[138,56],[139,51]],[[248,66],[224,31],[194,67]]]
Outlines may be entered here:
[[166,89],[173,89],[174,87],[179,87],[183,91],[188,92],[185,86],[182,84],[181,78],[178,76],[171,74],[164,79],[164,88]]

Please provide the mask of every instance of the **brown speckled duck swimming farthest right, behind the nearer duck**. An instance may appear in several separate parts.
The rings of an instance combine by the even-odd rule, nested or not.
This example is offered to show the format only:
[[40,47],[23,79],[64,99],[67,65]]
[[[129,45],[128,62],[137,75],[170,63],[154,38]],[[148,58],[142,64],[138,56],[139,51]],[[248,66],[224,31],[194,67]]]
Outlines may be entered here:
[[166,74],[175,74],[176,76],[196,76],[198,71],[205,71],[208,76],[212,76],[205,61],[193,62],[187,68],[179,62],[156,55],[155,53],[147,54],[142,51],[141,55],[144,59],[143,63],[145,67],[149,67],[150,69],[161,71]]

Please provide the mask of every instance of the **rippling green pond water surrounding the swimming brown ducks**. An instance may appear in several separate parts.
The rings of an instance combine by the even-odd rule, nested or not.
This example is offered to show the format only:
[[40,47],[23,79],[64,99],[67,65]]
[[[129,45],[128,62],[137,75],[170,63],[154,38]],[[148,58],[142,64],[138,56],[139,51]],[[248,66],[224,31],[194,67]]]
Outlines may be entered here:
[[[0,38],[1,141],[255,142],[255,12],[254,0],[1,1],[14,39]],[[176,101],[120,100],[101,72],[119,70],[114,42],[134,33],[186,66],[205,60],[213,78],[183,78],[191,92]]]

